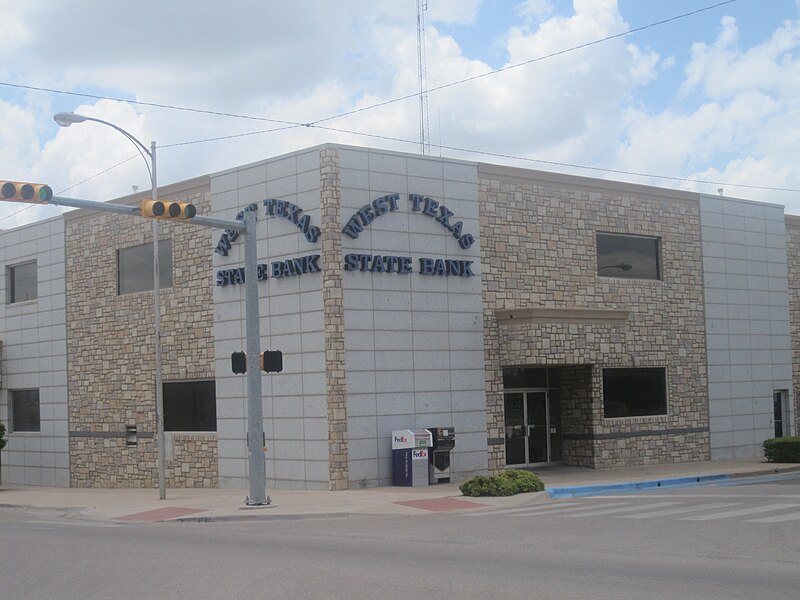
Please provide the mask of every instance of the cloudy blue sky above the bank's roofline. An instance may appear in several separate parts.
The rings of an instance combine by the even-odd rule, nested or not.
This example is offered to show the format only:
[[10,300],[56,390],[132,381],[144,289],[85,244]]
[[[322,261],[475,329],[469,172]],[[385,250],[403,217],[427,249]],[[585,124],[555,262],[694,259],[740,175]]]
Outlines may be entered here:
[[[325,142],[800,215],[800,0],[0,0],[0,179],[107,201]],[[0,229],[61,209],[0,203]]]

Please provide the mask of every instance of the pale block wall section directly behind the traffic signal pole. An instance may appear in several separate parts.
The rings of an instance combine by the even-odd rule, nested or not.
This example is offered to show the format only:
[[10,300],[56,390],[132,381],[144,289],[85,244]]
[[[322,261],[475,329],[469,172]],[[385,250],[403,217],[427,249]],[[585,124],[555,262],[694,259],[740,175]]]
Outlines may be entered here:
[[[320,242],[310,243],[291,221],[268,216],[263,204],[265,199],[286,200],[319,226],[319,188],[318,149],[282,156],[213,175],[212,213],[233,220],[247,205],[257,204],[259,264],[321,254]],[[215,243],[221,233],[214,230]],[[228,256],[214,254],[215,272],[243,266],[242,237]],[[247,382],[246,375],[231,373],[230,360],[232,352],[246,347],[244,298],[244,285],[214,289],[221,487],[247,486]],[[259,282],[259,298],[261,349],[283,352],[283,372],[262,374],[267,485],[327,489],[322,274],[270,277]]]

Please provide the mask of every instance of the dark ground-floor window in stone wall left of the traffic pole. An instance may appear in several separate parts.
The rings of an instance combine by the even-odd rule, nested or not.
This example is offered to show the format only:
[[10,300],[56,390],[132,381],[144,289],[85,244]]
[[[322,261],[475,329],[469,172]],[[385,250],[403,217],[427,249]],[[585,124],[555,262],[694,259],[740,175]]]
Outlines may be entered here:
[[164,384],[164,431],[216,431],[214,381]]

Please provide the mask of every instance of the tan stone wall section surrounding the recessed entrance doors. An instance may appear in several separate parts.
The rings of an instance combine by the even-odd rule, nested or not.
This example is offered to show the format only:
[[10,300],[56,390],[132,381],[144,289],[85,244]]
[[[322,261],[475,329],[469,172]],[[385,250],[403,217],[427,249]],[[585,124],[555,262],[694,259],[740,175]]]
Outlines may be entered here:
[[[562,397],[568,464],[708,459],[697,201],[486,165],[479,177],[490,468],[505,464],[502,367],[522,365],[582,366],[566,370]],[[661,280],[598,277],[597,232],[658,237]],[[509,318],[530,309],[537,318]],[[563,314],[575,310],[591,314]],[[602,369],[643,366],[666,367],[667,414],[605,419]]]

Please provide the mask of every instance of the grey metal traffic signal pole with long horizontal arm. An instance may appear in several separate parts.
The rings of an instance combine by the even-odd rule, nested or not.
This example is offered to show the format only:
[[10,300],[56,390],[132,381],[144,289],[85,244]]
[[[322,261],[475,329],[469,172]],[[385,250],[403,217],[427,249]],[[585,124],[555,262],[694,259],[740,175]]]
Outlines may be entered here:
[[[141,216],[139,206],[94,202],[77,198],[53,196],[47,204],[89,208],[92,210]],[[214,217],[195,216],[181,220],[187,225],[232,229],[244,235],[245,277],[245,332],[247,363],[256,367],[260,363],[261,328],[258,307],[258,245],[256,237],[256,211],[245,210],[244,222],[228,221]],[[249,468],[249,495],[245,502],[249,506],[265,506],[272,502],[267,496],[266,460],[264,458],[264,409],[262,406],[261,370],[247,371],[247,453]]]

